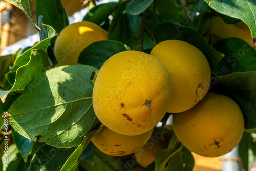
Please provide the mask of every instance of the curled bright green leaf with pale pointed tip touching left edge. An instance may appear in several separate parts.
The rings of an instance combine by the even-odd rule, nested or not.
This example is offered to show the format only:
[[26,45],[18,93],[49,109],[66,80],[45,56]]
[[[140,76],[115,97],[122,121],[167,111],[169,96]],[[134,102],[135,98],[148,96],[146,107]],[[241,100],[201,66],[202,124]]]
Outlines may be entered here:
[[10,93],[19,93],[24,90],[27,84],[41,74],[44,69],[44,60],[47,60],[47,54],[38,49],[33,49],[31,51],[30,60],[26,65],[19,67],[16,71],[16,79],[13,84],[13,87],[10,91],[0,91],[0,97],[2,102],[5,102],[5,99]]

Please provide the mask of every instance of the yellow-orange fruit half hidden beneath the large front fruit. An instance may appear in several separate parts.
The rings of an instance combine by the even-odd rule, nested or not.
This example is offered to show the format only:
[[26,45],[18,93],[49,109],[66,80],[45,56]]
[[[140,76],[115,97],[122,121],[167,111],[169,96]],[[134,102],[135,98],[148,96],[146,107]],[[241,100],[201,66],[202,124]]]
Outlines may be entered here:
[[104,126],[92,138],[92,142],[103,153],[111,156],[124,156],[134,153],[145,145],[152,132],[153,129],[140,135],[129,136],[118,134]]

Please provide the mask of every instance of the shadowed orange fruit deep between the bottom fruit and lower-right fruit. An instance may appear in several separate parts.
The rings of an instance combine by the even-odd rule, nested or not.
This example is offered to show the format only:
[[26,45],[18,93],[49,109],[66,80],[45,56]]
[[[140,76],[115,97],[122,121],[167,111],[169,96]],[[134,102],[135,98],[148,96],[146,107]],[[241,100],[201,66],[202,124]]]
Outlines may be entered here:
[[[134,153],[136,161],[142,167],[146,168],[153,161],[155,161],[154,154],[157,151],[161,151],[162,149],[166,149],[168,147],[170,138],[173,135],[173,130],[168,127],[169,125],[166,126],[167,127],[164,129],[163,133],[161,133],[161,127],[155,127],[152,136],[147,143]],[[162,135],[164,139],[162,139]]]

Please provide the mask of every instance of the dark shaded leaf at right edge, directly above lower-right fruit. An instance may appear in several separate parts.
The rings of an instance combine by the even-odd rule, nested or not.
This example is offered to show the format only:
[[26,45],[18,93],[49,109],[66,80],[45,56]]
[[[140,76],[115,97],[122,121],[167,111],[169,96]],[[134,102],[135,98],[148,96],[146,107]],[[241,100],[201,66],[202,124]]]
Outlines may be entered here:
[[240,106],[246,129],[256,128],[256,72],[237,72],[212,77],[212,85],[228,94]]

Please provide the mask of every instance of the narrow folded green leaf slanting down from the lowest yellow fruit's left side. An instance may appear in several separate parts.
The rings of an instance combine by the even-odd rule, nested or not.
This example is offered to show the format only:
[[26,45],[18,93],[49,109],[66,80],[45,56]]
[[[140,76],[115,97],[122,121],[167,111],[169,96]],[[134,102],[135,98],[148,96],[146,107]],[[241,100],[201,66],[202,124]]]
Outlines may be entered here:
[[66,163],[62,166],[61,170],[76,170],[76,163],[78,163],[79,158],[82,155],[82,152],[91,141],[92,137],[94,137],[101,129],[103,125],[101,125],[98,129],[91,131],[86,136],[84,136],[82,143],[76,148],[76,150],[72,153],[72,155],[68,158]]

